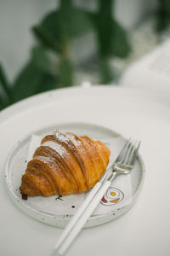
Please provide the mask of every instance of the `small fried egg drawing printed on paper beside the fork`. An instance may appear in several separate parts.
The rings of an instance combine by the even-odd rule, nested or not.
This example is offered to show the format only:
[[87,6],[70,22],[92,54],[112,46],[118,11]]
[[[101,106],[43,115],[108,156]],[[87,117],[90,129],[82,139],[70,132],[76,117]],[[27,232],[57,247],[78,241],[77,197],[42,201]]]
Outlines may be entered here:
[[116,205],[117,203],[122,201],[123,197],[124,194],[122,190],[110,187],[109,189],[107,189],[107,192],[101,199],[100,203],[104,206]]

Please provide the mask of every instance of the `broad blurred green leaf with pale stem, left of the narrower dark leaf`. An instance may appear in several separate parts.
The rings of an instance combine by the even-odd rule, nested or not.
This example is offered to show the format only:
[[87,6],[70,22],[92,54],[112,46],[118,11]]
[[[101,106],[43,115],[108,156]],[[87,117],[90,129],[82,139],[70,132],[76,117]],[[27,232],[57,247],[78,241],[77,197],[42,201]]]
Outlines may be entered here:
[[48,14],[42,23],[33,27],[40,44],[53,52],[58,62],[59,87],[74,83],[74,67],[71,61],[71,44],[76,38],[92,30],[92,24],[85,11],[74,7],[71,0],[62,0],[59,10]]

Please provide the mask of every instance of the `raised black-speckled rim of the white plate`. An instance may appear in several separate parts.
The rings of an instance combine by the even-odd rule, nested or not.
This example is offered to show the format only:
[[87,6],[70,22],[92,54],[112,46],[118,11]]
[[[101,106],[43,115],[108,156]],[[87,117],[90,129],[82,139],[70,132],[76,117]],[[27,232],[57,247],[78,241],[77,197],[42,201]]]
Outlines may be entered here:
[[[31,131],[29,134],[27,134],[25,137],[20,138],[20,142],[22,143],[26,143],[26,141],[28,141],[31,137],[32,133],[35,134],[42,134],[43,132],[46,131],[52,131],[53,127],[56,126],[72,126],[72,125],[81,125],[81,126],[90,126],[90,127],[96,127],[99,130],[102,131],[106,131],[106,133],[110,133],[111,135],[113,135],[113,137],[122,137],[123,139],[127,140],[126,137],[122,136],[120,133],[111,130],[110,128],[105,127],[105,125],[96,125],[94,123],[86,123],[86,122],[73,122],[73,123],[55,123],[55,124],[51,124],[48,125],[47,127],[43,127],[42,129],[38,129],[37,131]],[[63,128],[62,128],[63,129]],[[12,149],[10,150],[8,157],[5,161],[5,166],[4,166],[4,181],[6,184],[6,188],[8,190],[8,195],[10,196],[10,198],[14,201],[14,204],[20,208],[20,210],[22,212],[25,212],[28,216],[30,216],[31,218],[35,218],[38,221],[44,223],[44,224],[49,224],[52,226],[56,226],[59,228],[64,228],[65,225],[69,222],[69,220],[71,219],[72,215],[67,214],[67,215],[56,215],[53,213],[47,213],[47,212],[41,212],[41,216],[42,218],[40,219],[38,217],[38,215],[40,214],[39,211],[37,211],[36,209],[24,204],[24,202],[22,200],[20,200],[20,198],[14,194],[14,190],[12,189],[12,183],[11,180],[8,176],[8,172],[9,172],[9,165],[10,165],[10,160],[11,158],[13,158],[14,153],[16,152],[17,148],[19,147],[20,143],[15,144]],[[123,206],[123,207],[116,207],[116,210],[111,211],[111,212],[105,212],[103,214],[95,214],[92,215],[90,218],[88,218],[87,224],[85,224],[84,228],[88,228],[88,227],[93,227],[99,224],[105,224],[107,222],[110,222],[111,220],[114,220],[118,217],[120,217],[123,213],[127,212],[131,207],[133,207],[133,204],[135,203],[140,190],[142,189],[143,183],[144,183],[144,176],[145,176],[145,166],[144,166],[144,160],[142,159],[141,155],[138,154],[138,160],[141,166],[141,178],[140,178],[140,182],[139,182],[139,186],[138,189],[136,189],[135,193],[133,194],[132,200],[130,203],[128,203],[127,205]]]

